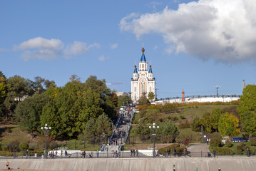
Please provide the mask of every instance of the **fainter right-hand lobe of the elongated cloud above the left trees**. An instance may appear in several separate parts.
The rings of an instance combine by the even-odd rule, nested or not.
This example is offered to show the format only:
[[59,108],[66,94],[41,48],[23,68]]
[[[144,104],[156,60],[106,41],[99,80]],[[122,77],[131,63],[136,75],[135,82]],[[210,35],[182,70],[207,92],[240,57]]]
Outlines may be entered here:
[[68,45],[66,47],[66,49],[64,50],[63,55],[66,57],[71,57],[71,56],[75,56],[75,55],[81,55],[81,54],[85,54],[87,53],[87,51],[90,48],[99,48],[99,44],[98,43],[94,43],[91,45],[87,45],[87,43],[85,42],[81,42],[81,41],[74,41],[73,44]]

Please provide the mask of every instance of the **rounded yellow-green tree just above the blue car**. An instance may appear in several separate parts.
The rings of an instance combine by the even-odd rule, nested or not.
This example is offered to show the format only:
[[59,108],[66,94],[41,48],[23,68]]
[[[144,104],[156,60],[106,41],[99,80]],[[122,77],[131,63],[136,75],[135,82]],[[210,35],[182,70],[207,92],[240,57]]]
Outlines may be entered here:
[[239,119],[235,115],[225,113],[220,116],[218,129],[222,136],[233,136],[240,133],[238,125]]

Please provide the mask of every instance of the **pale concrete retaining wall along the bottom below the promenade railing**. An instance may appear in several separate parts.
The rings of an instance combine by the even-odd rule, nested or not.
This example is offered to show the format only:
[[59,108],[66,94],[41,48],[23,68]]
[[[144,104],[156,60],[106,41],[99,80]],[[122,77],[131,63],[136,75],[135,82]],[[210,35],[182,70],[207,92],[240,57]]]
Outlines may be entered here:
[[[0,170],[5,169],[6,159],[0,160]],[[256,158],[150,158],[150,159],[10,159],[10,167],[20,170],[88,170],[88,171],[252,171]]]

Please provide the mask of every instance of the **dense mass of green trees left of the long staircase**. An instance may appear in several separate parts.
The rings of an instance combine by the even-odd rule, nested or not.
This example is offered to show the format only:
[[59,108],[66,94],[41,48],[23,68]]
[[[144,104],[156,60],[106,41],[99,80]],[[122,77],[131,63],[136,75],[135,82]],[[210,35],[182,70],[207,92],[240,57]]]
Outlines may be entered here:
[[118,99],[106,81],[96,76],[82,83],[73,75],[65,86],[58,87],[39,76],[34,81],[21,76],[6,78],[0,71],[0,121],[19,123],[32,135],[42,134],[45,123],[56,139],[110,135],[118,103],[123,100],[130,103],[128,97]]

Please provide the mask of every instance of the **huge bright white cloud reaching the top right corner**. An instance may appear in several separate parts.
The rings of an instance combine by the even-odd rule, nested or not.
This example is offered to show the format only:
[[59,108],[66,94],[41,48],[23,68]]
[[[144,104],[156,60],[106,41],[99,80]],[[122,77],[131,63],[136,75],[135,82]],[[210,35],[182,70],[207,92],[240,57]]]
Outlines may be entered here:
[[251,0],[200,0],[153,14],[130,14],[121,31],[159,33],[167,52],[185,52],[203,61],[256,61],[256,4]]

